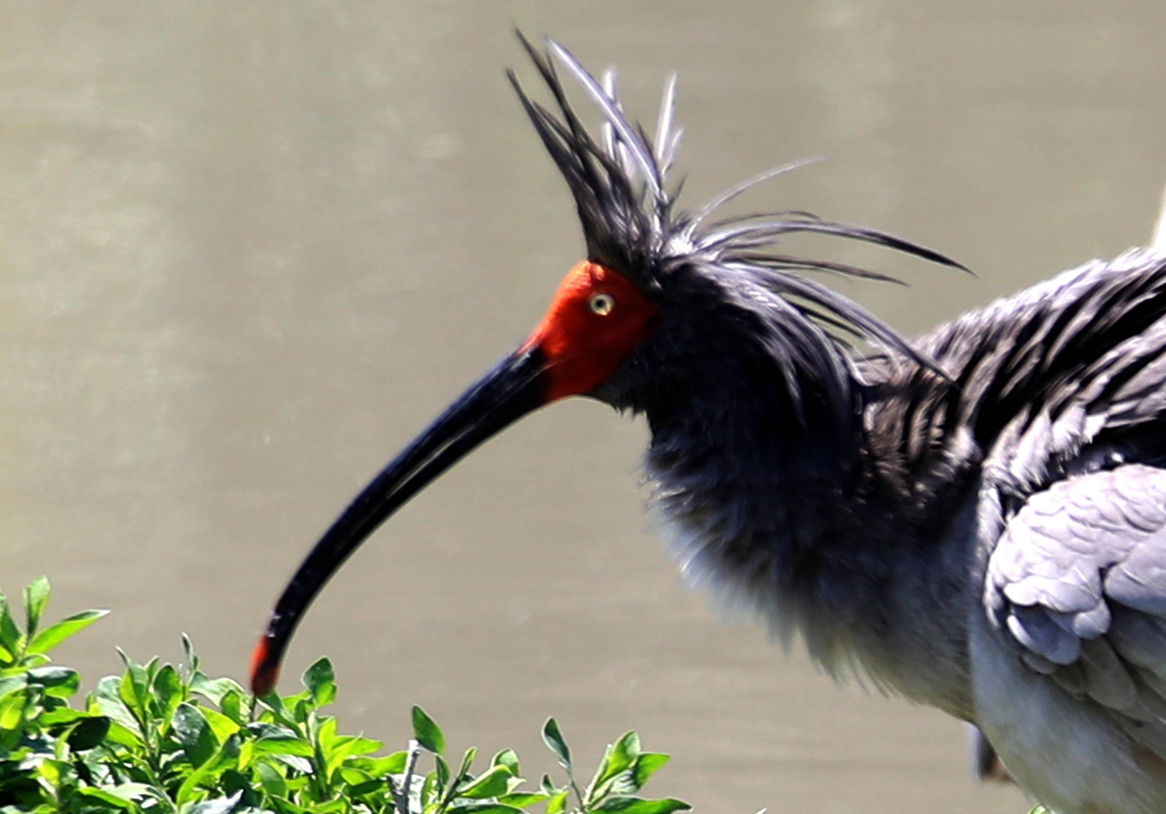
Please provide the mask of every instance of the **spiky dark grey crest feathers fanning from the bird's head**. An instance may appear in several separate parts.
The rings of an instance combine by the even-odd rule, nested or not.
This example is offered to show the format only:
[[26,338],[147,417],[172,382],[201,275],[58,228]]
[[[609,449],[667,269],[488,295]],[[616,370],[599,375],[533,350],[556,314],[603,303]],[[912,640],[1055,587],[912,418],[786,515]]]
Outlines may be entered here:
[[[575,198],[589,259],[616,268],[649,294],[667,290],[677,268],[723,280],[731,289],[764,290],[777,295],[777,309],[798,325],[794,335],[824,334],[849,349],[848,336],[905,356],[943,376],[920,351],[873,314],[837,292],[798,272],[829,272],[847,276],[898,282],[894,278],[847,264],[802,258],[777,251],[777,241],[795,233],[817,233],[874,244],[925,260],[967,271],[939,252],[865,226],[822,219],[809,212],[785,211],[722,219],[708,218],[751,187],[806,166],[817,159],[793,161],[749,178],[696,210],[676,208],[680,184],[669,185],[669,173],[680,145],[675,125],[675,77],[665,86],[654,136],[624,113],[613,71],[596,79],[554,40],[539,49],[518,31],[554,111],[534,101],[514,71],[507,71],[531,122],[542,139]],[[596,138],[568,98],[559,66],[578,83],[602,117]],[[772,313],[774,302],[757,303]],[[745,303],[746,306],[749,303]],[[807,334],[807,331],[809,331]],[[787,349],[796,356],[798,349]]]

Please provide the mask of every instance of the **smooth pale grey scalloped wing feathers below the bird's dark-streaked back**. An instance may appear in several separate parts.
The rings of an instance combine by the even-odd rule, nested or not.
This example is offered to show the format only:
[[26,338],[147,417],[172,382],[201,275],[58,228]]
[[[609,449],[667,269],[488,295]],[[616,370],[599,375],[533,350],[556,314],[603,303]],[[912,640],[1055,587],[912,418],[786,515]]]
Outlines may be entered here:
[[984,604],[1025,665],[1166,757],[1166,470],[1118,465],[1030,496],[988,560]]

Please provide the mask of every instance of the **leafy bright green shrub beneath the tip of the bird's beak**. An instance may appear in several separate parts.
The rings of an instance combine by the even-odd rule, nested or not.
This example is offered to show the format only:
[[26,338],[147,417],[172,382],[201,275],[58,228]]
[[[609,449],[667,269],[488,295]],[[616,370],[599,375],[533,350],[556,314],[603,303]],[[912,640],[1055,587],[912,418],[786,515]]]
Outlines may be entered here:
[[[336,699],[332,665],[303,674],[304,690],[255,699],[236,681],[211,679],[183,636],[187,664],[125,653],[121,675],[107,675],[84,701],[73,669],[50,664],[49,651],[106,611],[85,611],[41,629],[49,598],[43,577],[24,589],[23,630],[0,594],[0,814],[132,812],[134,814],[670,814],[680,800],[634,797],[667,755],[645,752],[635,732],[607,746],[591,781],[576,781],[570,750],[554,718],[543,739],[566,783],[543,776],[525,788],[518,756],[494,755],[473,774],[477,750],[454,764],[445,738],[413,708],[409,748],[337,732],[321,709]],[[119,651],[120,652],[120,651]],[[428,752],[431,769],[419,766]]]

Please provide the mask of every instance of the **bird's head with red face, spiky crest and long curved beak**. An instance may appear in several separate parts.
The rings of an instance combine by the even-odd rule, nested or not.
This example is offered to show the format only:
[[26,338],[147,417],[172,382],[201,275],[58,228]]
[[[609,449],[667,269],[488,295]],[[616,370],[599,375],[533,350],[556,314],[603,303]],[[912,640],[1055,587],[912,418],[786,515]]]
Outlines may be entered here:
[[[796,272],[891,278],[785,254],[775,241],[813,232],[958,264],[901,238],[807,212],[707,224],[726,201],[807,161],[763,173],[695,211],[679,210],[679,184],[669,184],[680,142],[674,78],[649,136],[626,118],[613,72],[597,79],[556,42],[538,49],[519,38],[553,106],[533,100],[513,71],[508,77],[575,199],[586,259],[568,272],[529,337],[406,447],[316,543],[255,648],[251,685],[257,695],[274,687],[301,616],[349,555],[449,466],[539,407],[589,395],[646,412],[651,421],[654,412],[682,407],[694,381],[724,378],[726,365],[745,359],[764,369],[759,378],[772,380],[794,416],[822,406],[843,426],[855,421],[848,337],[930,365],[869,311]],[[597,133],[576,113],[560,68],[597,107]]]

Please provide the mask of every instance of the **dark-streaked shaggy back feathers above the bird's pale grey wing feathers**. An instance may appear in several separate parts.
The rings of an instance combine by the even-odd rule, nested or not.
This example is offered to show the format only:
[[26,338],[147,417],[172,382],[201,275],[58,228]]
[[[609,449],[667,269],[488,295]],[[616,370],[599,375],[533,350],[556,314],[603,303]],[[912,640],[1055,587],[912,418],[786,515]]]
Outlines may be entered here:
[[858,364],[878,394],[876,452],[908,479],[983,463],[1023,499],[1098,450],[1166,461],[1166,254],[1086,264],[916,344],[949,380],[877,356]]

